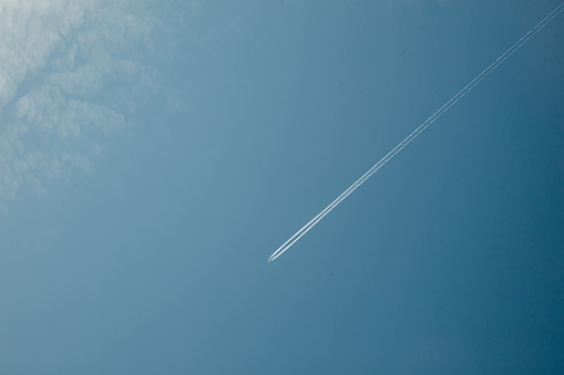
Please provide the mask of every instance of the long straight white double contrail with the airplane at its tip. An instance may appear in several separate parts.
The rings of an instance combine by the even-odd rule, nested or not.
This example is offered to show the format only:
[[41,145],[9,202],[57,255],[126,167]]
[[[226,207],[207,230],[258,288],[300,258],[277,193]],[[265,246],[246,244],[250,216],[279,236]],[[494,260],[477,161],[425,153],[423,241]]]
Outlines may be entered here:
[[443,113],[449,111],[451,106],[453,106],[458,101],[460,101],[465,94],[468,94],[475,85],[478,85],[483,79],[485,79],[491,72],[493,72],[498,66],[500,66],[509,56],[511,56],[516,50],[519,50],[523,44],[525,44],[534,34],[541,31],[548,22],[551,22],[556,15],[558,15],[564,10],[564,2],[562,2],[556,9],[554,9],[548,15],[546,15],[541,22],[539,22],[533,29],[531,29],[523,38],[521,38],[515,44],[513,44],[507,51],[505,51],[501,56],[498,58],[493,63],[490,64],[482,73],[478,74],[475,79],[473,79],[469,84],[464,86],[461,91],[457,93],[457,95],[452,96],[450,101],[444,103],[442,107],[439,108],[435,113],[431,115],[431,117],[427,118],[424,123],[419,125],[410,135],[406,137],[402,142],[400,142],[391,152],[389,152],[384,157],[380,159],[377,164],[375,164],[366,174],[363,174],[359,179],[355,181],[349,188],[337,197],[329,206],[327,206],[321,212],[317,213],[315,218],[309,220],[300,230],[298,230],[294,236],[291,236],[283,246],[276,250],[268,261],[271,262],[276,258],[280,257],[286,250],[288,250],[297,240],[299,240],[304,235],[306,235],[311,228],[314,228],[327,213],[332,211],[335,207],[337,207],[341,201],[343,201],[348,196],[350,196],[356,189],[358,189],[362,184],[366,183],[367,179],[370,178],[378,169],[383,167],[386,163],[390,162],[399,152],[403,149],[407,145],[411,143],[411,140],[416,139],[425,128],[429,127],[437,118],[442,116]]

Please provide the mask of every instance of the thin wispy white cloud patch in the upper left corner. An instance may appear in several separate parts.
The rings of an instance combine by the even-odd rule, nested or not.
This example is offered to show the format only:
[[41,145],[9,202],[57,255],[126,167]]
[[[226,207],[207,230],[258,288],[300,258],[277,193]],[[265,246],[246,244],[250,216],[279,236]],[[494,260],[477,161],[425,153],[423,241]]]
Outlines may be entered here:
[[89,170],[155,90],[141,2],[0,0],[0,210]]

